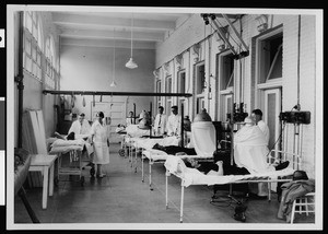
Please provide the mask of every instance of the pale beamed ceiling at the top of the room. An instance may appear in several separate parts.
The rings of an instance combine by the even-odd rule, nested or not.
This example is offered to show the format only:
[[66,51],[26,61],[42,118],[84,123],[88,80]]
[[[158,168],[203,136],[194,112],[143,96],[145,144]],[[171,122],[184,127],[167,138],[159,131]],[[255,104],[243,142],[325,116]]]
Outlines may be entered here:
[[[154,49],[190,13],[52,12],[60,44]],[[132,26],[133,24],[133,26]],[[132,32],[131,32],[132,28]]]

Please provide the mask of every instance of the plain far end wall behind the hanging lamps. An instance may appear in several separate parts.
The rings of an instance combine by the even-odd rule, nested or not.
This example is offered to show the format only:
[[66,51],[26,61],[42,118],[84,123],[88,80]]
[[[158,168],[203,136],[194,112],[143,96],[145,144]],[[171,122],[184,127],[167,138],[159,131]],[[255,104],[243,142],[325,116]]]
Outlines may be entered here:
[[[116,87],[110,87],[114,75],[114,48],[62,46],[60,50],[61,86],[63,91],[105,91],[105,92],[153,92],[154,89],[154,61],[155,51],[152,49],[134,49],[133,60],[138,68],[125,67],[130,58],[130,49],[115,49],[115,82]],[[69,100],[70,96],[67,96]],[[91,103],[93,96],[77,95],[74,112],[85,113],[91,118]],[[99,96],[95,97],[99,101]],[[130,96],[127,103],[127,113],[133,110],[136,103],[137,115],[142,109],[150,109],[150,96]],[[110,102],[110,96],[103,96],[103,102]]]

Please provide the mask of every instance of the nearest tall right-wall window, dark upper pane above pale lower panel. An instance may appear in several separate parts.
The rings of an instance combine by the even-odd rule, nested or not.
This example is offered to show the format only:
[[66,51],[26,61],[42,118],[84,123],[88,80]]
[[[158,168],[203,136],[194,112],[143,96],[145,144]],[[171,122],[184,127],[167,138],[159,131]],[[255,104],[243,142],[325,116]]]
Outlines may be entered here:
[[281,142],[279,113],[282,106],[282,59],[283,28],[278,26],[254,38],[256,48],[256,91],[257,108],[263,113],[263,120],[269,127],[269,148],[278,150]]

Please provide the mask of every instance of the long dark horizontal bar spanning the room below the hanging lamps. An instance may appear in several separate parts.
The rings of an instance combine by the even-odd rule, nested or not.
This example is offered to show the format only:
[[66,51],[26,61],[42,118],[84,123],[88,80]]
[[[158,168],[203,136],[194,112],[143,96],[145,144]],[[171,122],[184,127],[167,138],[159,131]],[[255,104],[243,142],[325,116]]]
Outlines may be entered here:
[[190,93],[147,93],[147,92],[109,92],[109,91],[57,91],[44,90],[43,94],[62,95],[103,95],[103,96],[185,96],[190,97]]

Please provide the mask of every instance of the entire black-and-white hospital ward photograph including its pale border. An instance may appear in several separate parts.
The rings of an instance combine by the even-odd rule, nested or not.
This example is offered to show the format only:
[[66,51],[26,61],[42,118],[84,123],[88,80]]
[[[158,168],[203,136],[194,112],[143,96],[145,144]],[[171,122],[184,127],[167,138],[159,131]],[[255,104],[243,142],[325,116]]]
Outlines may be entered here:
[[320,17],[259,12],[8,5],[8,226],[323,225]]

